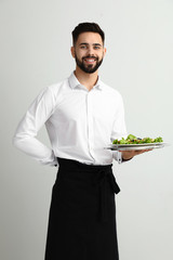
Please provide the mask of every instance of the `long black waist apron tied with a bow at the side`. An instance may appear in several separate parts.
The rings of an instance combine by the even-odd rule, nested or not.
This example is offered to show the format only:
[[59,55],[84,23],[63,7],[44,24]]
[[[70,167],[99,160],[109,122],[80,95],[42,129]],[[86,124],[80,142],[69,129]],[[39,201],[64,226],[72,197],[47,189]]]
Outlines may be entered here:
[[52,191],[45,260],[118,260],[111,165],[58,158]]

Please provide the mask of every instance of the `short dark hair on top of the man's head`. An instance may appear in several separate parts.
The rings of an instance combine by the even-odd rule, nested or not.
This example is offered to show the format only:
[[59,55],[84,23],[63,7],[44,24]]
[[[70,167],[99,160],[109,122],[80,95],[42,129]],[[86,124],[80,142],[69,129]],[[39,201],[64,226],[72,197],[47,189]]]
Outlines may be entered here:
[[102,37],[103,43],[104,43],[104,41],[105,41],[105,34],[101,29],[98,24],[95,24],[95,23],[81,23],[78,26],[76,26],[75,29],[72,30],[72,42],[74,42],[74,46],[76,44],[79,35],[82,34],[82,32],[86,32],[86,31],[92,31],[92,32],[99,34],[101,37]]

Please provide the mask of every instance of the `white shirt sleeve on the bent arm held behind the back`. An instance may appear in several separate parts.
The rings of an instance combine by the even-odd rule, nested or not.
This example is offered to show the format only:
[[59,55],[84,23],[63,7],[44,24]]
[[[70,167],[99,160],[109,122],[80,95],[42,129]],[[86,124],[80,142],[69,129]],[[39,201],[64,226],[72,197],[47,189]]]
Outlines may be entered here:
[[54,109],[54,96],[49,88],[41,91],[18,123],[13,144],[43,165],[57,165],[54,153],[37,139],[38,131]]

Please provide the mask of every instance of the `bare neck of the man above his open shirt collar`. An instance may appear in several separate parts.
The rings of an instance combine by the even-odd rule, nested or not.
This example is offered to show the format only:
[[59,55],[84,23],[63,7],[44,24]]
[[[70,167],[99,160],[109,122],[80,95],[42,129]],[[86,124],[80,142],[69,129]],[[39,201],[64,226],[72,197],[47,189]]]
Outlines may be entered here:
[[86,74],[77,66],[75,70],[75,76],[77,77],[79,82],[90,91],[95,86],[98,79],[98,70],[93,74]]

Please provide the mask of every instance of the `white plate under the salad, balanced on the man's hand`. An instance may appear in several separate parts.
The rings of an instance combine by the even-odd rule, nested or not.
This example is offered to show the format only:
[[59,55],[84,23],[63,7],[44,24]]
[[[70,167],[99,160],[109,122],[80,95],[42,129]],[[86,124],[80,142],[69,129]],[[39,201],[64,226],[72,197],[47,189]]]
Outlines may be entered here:
[[111,144],[108,150],[112,151],[135,151],[135,150],[154,150],[162,148],[167,143],[145,143],[145,144]]

